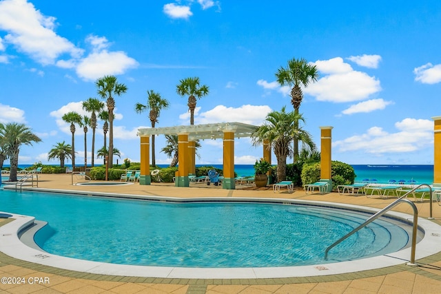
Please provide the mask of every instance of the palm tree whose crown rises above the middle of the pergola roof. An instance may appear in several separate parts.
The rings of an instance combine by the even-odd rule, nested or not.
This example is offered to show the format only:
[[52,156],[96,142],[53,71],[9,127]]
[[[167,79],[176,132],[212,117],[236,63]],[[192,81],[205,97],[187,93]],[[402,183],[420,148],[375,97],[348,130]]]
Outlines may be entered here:
[[209,92],[207,85],[201,85],[199,78],[184,78],[176,86],[176,93],[180,96],[188,96],[188,108],[190,111],[190,125],[194,125],[194,109],[197,99],[207,96]]

